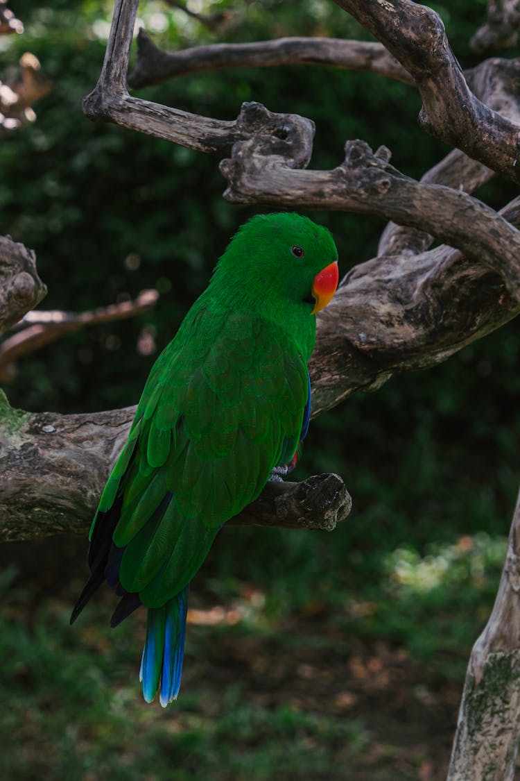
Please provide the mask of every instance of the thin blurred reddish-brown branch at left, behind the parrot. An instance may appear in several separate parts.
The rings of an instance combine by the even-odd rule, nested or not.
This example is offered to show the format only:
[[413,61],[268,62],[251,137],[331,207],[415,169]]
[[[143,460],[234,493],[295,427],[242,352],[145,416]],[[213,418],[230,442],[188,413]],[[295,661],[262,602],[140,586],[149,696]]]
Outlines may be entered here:
[[[135,301],[99,307],[93,312],[34,312],[37,318],[30,318],[33,321],[31,325],[0,342],[0,382],[12,379],[13,364],[22,355],[60,339],[65,333],[75,333],[86,326],[140,315],[152,308],[158,297],[157,291],[147,290],[141,291]],[[35,319],[39,322],[34,322]]]

